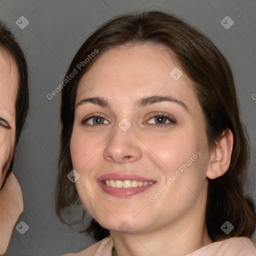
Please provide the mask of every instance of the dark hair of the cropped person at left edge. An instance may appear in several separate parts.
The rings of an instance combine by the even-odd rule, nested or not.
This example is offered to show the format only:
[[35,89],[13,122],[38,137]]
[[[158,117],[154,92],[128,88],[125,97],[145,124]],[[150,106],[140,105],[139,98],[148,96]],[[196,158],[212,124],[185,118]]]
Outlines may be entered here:
[[[22,127],[29,108],[29,90],[28,90],[28,70],[27,62],[24,53],[19,46],[16,38],[6,24],[0,20],[0,49],[1,53],[13,60],[18,71],[18,86],[15,100],[15,142],[14,148],[8,152],[8,158],[3,164],[3,167],[8,166],[5,178],[12,170],[13,165],[13,152],[15,151],[18,143]],[[4,173],[2,169],[1,175]]]

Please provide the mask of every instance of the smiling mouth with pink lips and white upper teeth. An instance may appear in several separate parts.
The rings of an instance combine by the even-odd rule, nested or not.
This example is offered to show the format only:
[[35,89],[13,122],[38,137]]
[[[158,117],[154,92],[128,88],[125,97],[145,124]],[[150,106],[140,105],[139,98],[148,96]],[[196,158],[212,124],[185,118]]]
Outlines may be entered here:
[[104,192],[118,197],[128,197],[147,190],[156,181],[135,175],[107,174],[97,179]]

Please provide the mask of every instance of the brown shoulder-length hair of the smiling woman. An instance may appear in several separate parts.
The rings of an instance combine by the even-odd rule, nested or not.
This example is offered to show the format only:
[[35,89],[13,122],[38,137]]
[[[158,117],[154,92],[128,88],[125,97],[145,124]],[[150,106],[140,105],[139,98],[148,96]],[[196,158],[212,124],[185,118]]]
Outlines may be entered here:
[[[249,163],[249,146],[246,131],[239,118],[239,107],[234,80],[229,64],[209,38],[174,15],[161,11],[128,13],[102,24],[81,45],[66,75],[78,63],[97,49],[94,56],[62,88],[61,92],[61,149],[57,180],[56,211],[62,212],[80,203],[75,184],[66,175],[72,169],[70,137],[74,121],[74,106],[78,83],[82,75],[109,48],[133,43],[150,42],[164,45],[174,53],[184,73],[193,81],[194,90],[204,113],[208,146],[212,149],[229,128],[234,136],[231,163],[226,173],[209,179],[206,225],[213,241],[232,236],[250,237],[255,228],[252,201],[244,194],[244,178]],[[228,220],[234,229],[227,235],[221,225]],[[86,229],[96,240],[109,235],[94,219]]]

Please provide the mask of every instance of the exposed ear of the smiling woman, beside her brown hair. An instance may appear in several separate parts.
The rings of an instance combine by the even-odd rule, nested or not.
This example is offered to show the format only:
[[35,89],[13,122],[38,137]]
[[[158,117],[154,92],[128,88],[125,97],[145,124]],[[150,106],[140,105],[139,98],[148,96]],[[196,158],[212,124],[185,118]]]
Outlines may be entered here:
[[210,152],[206,176],[210,179],[222,176],[228,169],[233,147],[233,133],[230,129],[222,132],[221,139],[216,142]]

